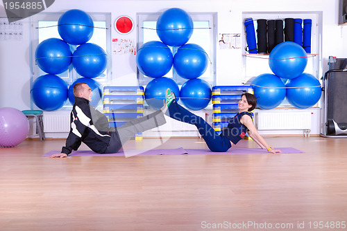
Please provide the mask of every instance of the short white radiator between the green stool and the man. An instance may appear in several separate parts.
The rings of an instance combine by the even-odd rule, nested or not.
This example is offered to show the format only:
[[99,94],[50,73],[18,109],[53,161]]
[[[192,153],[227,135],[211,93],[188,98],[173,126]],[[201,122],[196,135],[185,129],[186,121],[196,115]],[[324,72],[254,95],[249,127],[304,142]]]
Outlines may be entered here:
[[50,115],[44,113],[44,132],[69,132],[70,115]]

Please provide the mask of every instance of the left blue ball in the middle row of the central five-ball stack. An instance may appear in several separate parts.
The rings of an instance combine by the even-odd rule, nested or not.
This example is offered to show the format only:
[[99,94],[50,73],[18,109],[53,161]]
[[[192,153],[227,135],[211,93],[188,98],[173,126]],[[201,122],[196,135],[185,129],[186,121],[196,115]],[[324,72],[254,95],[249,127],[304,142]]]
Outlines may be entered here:
[[172,60],[170,48],[161,41],[148,41],[137,50],[137,68],[148,77],[166,75],[171,70]]

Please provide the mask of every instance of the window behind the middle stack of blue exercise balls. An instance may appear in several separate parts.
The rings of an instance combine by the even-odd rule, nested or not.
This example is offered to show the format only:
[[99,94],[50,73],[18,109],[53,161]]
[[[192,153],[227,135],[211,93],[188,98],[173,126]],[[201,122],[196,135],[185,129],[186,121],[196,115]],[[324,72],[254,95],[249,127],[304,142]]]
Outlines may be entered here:
[[[187,43],[189,44],[198,44],[201,46],[205,52],[208,54],[210,59],[210,64],[208,65],[207,70],[201,79],[205,80],[211,85],[214,85],[216,82],[216,42],[217,33],[215,28],[215,20],[217,19],[217,13],[189,13],[194,22],[194,32],[192,37]],[[160,41],[156,33],[156,22],[160,13],[140,13],[137,14],[138,33],[137,33],[137,48],[140,48],[147,41]],[[173,54],[176,53],[177,48],[170,47]],[[174,66],[171,68],[171,71],[165,75],[165,77],[171,77],[178,85],[184,84],[187,80],[183,77],[180,77],[174,70]],[[137,79],[140,85],[146,85],[153,78],[144,76],[141,72],[137,70]]]

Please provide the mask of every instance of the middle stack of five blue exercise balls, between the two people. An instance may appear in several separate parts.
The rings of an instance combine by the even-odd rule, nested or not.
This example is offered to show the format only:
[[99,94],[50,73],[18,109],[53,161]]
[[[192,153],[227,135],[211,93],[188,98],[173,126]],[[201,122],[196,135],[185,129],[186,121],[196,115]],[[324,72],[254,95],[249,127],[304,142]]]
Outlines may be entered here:
[[[149,106],[162,107],[168,88],[188,109],[201,110],[208,106],[210,85],[198,79],[208,68],[208,55],[201,46],[187,44],[193,30],[192,17],[185,10],[170,8],[160,15],[156,24],[160,41],[146,42],[137,50],[137,68],[147,77],[154,78],[144,93]],[[169,46],[178,48],[174,55]],[[187,79],[180,89],[174,80],[164,77],[172,66],[180,77]]]

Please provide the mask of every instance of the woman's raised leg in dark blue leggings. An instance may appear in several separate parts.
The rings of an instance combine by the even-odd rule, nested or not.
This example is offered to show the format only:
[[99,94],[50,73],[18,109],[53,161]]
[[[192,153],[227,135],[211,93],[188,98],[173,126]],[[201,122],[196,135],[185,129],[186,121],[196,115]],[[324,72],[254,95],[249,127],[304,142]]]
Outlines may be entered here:
[[205,120],[203,120],[203,118],[200,116],[195,115],[194,113],[191,113],[184,107],[180,106],[176,100],[172,101],[169,105],[169,115],[175,120],[186,122],[188,124],[194,124],[211,151],[221,152],[230,149],[231,143],[226,137],[219,136],[219,134],[214,131],[210,124],[208,124],[208,122],[205,122]]

